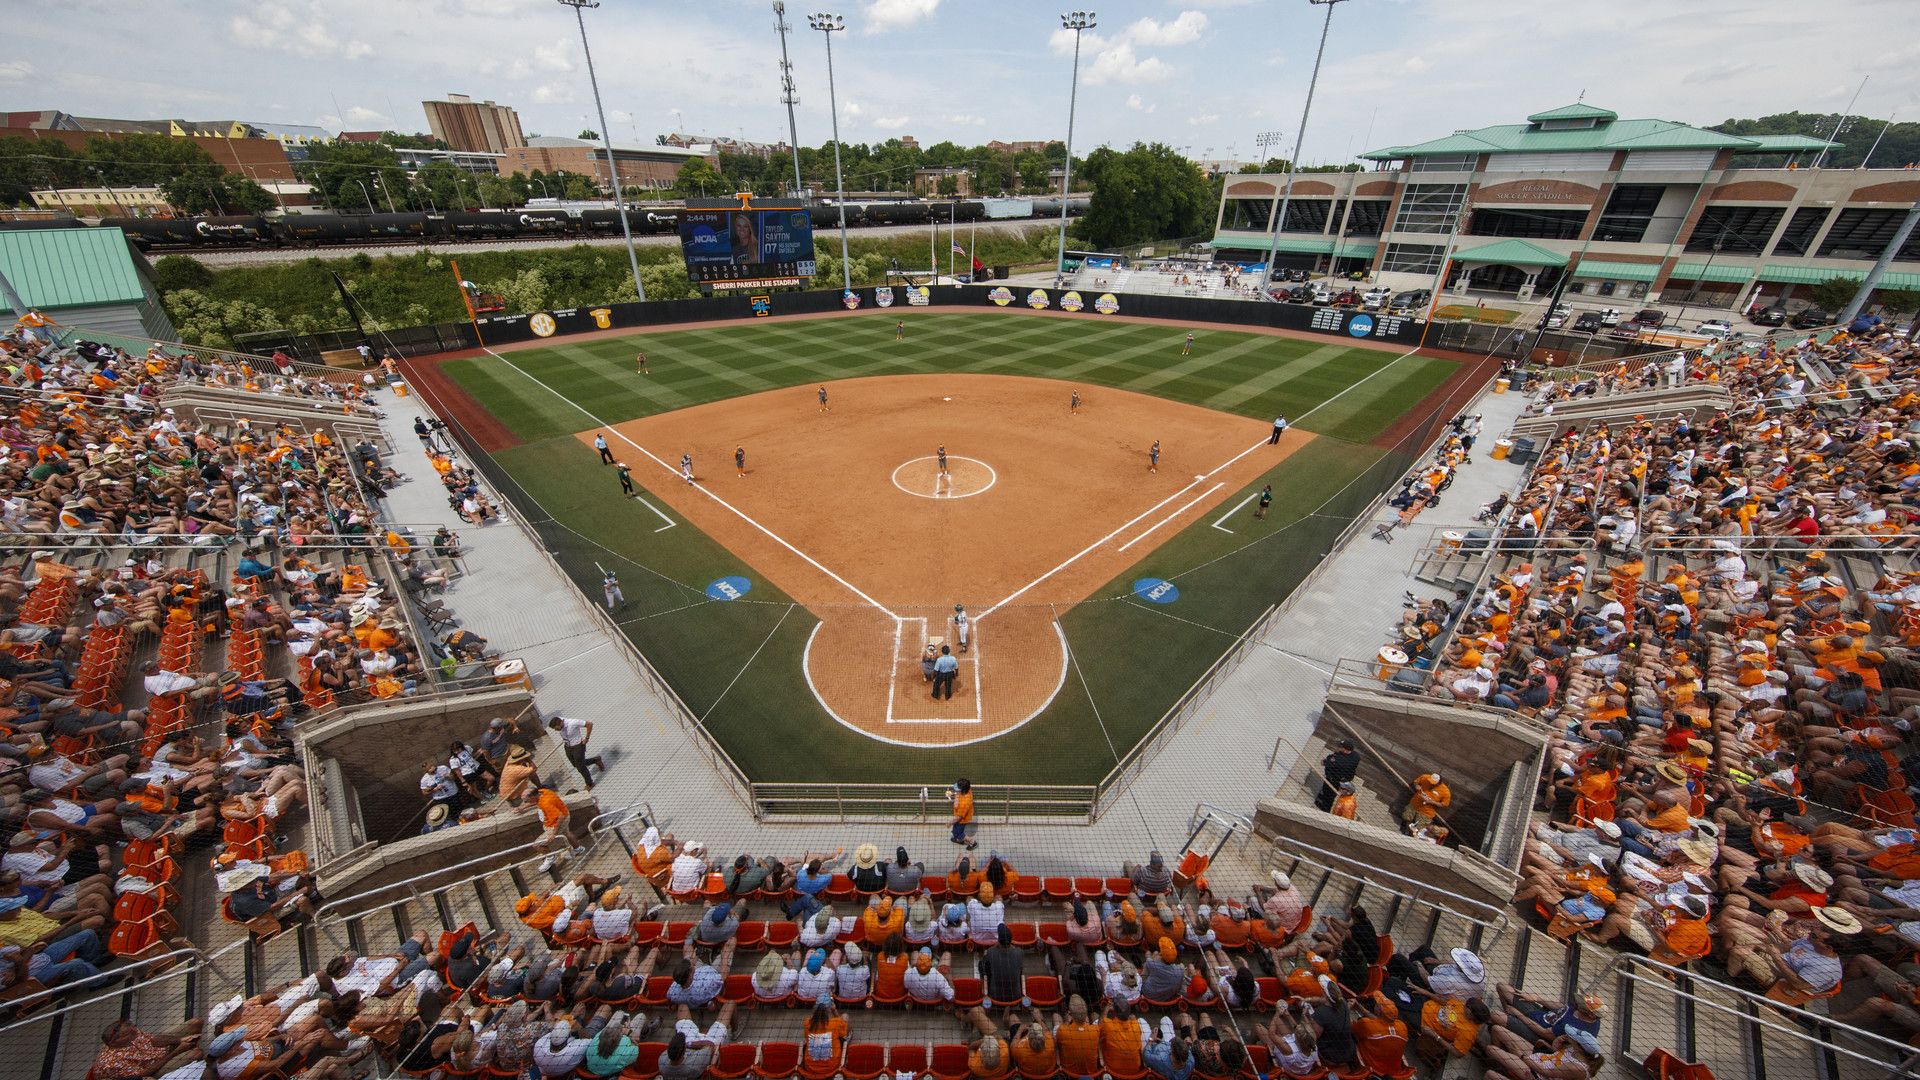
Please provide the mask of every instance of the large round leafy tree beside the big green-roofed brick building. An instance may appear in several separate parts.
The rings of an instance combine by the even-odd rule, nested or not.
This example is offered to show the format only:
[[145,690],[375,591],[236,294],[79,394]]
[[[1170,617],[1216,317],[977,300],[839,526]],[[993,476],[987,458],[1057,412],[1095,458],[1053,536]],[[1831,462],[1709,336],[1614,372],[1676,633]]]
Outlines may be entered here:
[[1206,175],[1160,142],[1135,142],[1125,152],[1102,146],[1075,175],[1092,186],[1077,231],[1096,248],[1196,236],[1213,217]]

